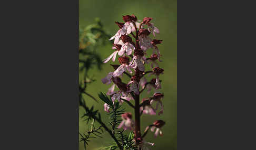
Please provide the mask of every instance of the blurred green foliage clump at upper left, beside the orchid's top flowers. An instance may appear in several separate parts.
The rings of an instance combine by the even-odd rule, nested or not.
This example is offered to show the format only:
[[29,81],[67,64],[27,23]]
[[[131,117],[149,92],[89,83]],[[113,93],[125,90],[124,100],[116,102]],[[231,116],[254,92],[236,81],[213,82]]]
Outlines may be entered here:
[[102,69],[102,58],[97,49],[111,41],[106,42],[110,35],[106,34],[100,19],[96,23],[80,29],[79,33],[79,76],[81,88],[86,88],[87,83],[95,81],[88,75],[88,71],[94,67]]

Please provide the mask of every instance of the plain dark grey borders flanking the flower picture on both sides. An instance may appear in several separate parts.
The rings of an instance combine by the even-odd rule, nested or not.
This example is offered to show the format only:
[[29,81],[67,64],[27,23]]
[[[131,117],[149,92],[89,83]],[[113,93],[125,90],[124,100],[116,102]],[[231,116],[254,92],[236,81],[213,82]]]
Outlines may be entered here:
[[[0,149],[78,149],[77,4],[1,1]],[[254,6],[178,1],[179,149],[255,149]]]

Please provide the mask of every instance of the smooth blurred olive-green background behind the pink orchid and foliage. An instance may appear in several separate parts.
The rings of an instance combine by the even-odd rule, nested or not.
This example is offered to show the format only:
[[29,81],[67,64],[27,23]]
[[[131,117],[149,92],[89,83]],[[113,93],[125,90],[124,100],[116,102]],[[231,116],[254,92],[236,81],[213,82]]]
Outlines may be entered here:
[[[159,28],[160,34],[156,34],[156,39],[162,39],[163,43],[157,45],[160,49],[161,60],[160,67],[164,69],[164,74],[160,75],[162,80],[161,92],[164,93],[164,113],[162,115],[142,115],[141,117],[141,130],[144,131],[145,127],[152,124],[155,120],[164,120],[165,126],[162,127],[163,136],[153,137],[153,133],[150,132],[145,137],[145,141],[155,143],[153,149],[177,149],[177,2],[174,1],[103,1],[103,0],[80,0],[80,27],[86,27],[87,25],[95,23],[96,17],[102,20],[104,29],[113,36],[119,29],[114,23],[115,21],[122,22],[122,15],[134,14],[138,20],[143,20],[144,17],[152,17],[151,21]],[[152,35],[151,38],[153,39]],[[111,55],[113,50],[111,45],[99,48],[99,53],[102,59]],[[152,51],[152,50],[148,50]],[[151,52],[148,54],[151,55]],[[107,73],[113,71],[111,64],[119,64],[118,61],[108,62],[103,65],[103,70],[99,71],[96,68],[90,72],[97,81],[88,85],[86,89],[88,93],[91,93],[97,98],[97,94],[100,92],[106,93],[110,85],[103,84],[101,79],[104,78]],[[148,65],[146,70],[149,70]],[[149,78],[148,78],[149,79]],[[129,79],[125,78],[124,81]],[[112,84],[111,84],[112,85]],[[151,97],[153,93],[147,94],[143,92],[142,98]],[[90,98],[88,98],[90,99]],[[99,99],[99,98],[97,98]],[[133,102],[132,102],[133,103]],[[90,100],[88,105],[94,105],[96,109],[102,114],[103,121],[108,122],[106,113],[104,112],[103,102],[95,103]],[[126,111],[133,113],[126,103],[123,104]],[[80,111],[80,115],[83,111]],[[80,119],[80,132],[86,131],[88,126]],[[99,149],[101,146],[107,146],[112,142],[111,137],[104,132],[103,138],[93,139],[89,143],[87,149],[94,150]],[[84,149],[84,143],[80,143],[80,149]]]

